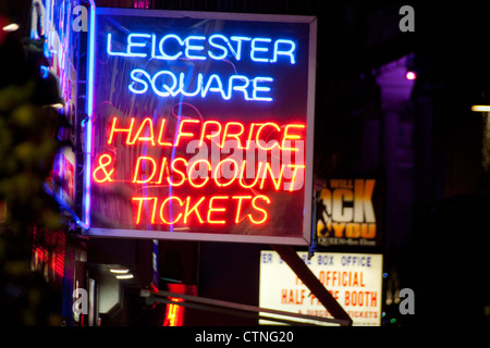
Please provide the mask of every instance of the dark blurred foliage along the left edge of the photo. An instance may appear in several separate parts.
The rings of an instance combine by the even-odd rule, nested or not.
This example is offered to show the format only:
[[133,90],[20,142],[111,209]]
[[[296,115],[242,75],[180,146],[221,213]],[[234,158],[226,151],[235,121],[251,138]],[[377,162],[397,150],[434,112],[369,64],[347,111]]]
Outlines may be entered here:
[[62,226],[44,190],[60,115],[35,104],[35,79],[0,88],[0,326],[61,323],[59,288],[30,270],[33,226]]

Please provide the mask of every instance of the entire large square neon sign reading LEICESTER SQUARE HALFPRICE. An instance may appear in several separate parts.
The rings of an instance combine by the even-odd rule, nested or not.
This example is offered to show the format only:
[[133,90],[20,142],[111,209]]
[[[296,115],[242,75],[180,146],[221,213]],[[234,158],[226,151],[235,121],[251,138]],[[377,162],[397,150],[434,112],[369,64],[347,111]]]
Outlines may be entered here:
[[309,244],[316,18],[91,16],[85,233]]

